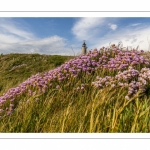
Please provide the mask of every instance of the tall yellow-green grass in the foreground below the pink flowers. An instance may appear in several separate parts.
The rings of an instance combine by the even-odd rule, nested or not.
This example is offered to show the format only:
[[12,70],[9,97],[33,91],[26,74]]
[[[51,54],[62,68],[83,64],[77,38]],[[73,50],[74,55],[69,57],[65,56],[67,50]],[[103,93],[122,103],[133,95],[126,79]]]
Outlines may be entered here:
[[[141,69],[141,66],[138,66]],[[61,88],[22,95],[10,116],[0,119],[0,132],[19,133],[147,133],[150,132],[150,96],[137,92],[130,99],[125,88],[92,85],[97,76],[115,76],[101,68],[64,81]],[[77,90],[81,84],[84,88]]]

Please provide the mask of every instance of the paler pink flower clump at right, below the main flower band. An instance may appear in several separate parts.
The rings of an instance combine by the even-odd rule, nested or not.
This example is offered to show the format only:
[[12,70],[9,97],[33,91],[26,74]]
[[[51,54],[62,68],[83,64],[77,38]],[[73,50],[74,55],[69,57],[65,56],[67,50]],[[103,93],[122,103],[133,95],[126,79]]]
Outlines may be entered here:
[[129,98],[137,92],[145,92],[149,88],[150,68],[142,68],[141,71],[138,71],[133,69],[133,67],[129,67],[128,70],[119,71],[115,77],[106,76],[101,78],[98,76],[92,84],[99,89],[105,87],[126,88],[128,89],[126,98]]

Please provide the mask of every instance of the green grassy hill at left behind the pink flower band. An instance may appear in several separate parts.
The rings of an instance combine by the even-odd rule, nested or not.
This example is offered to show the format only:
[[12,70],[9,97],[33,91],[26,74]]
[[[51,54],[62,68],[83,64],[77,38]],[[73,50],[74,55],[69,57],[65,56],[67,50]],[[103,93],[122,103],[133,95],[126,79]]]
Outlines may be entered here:
[[54,69],[71,58],[39,54],[0,55],[0,95],[30,76]]

